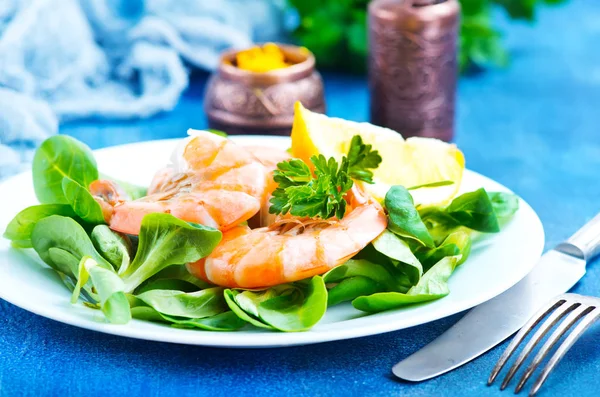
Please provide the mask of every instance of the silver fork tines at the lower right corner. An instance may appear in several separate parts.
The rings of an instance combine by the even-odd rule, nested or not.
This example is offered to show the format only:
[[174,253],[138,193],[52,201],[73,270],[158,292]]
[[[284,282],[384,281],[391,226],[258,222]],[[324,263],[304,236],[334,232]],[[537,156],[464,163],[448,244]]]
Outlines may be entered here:
[[[547,318],[546,318],[547,317]],[[565,318],[566,317],[566,318]],[[540,326],[540,328],[533,335],[531,340],[525,345],[525,348],[517,357],[517,360],[508,370],[504,381],[502,381],[502,385],[500,386],[500,390],[504,390],[511,379],[515,376],[519,368],[523,365],[523,362],[529,357],[531,352],[535,347],[539,345],[539,342],[542,338],[550,331],[556,324],[559,324],[556,330],[550,335],[548,340],[544,343],[541,349],[533,358],[533,361],[519,380],[517,387],[515,388],[515,393],[519,393],[527,380],[533,375],[533,372],[537,369],[540,363],[544,360],[544,358],[548,355],[550,350],[556,345],[556,343],[560,340],[560,338],[565,335],[575,323],[579,320],[579,324],[575,328],[572,329],[571,333],[565,338],[564,342],[556,349],[554,355],[550,358],[544,369],[542,369],[541,374],[538,376],[537,380],[533,384],[531,391],[529,392],[530,396],[535,395],[542,384],[548,378],[548,375],[556,364],[563,358],[563,356],[567,353],[567,351],[575,344],[577,339],[600,317],[600,298],[595,298],[591,296],[583,296],[578,294],[563,294],[558,296],[555,300],[548,303],[546,307],[542,308],[538,311],[517,333],[515,338],[510,342],[502,356],[496,363],[496,366],[492,370],[490,377],[488,379],[488,385],[494,383],[494,380],[508,361],[508,359],[515,352],[516,348],[523,342],[525,337],[531,332],[533,328],[535,328],[544,318],[546,321]],[[564,320],[563,320],[564,319]]]

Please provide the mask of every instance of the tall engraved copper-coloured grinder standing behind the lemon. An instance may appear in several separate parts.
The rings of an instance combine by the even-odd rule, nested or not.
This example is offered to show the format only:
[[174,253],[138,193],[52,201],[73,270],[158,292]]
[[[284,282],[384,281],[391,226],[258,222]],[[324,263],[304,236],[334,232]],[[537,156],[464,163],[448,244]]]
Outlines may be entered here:
[[369,4],[371,122],[405,137],[454,136],[457,0]]

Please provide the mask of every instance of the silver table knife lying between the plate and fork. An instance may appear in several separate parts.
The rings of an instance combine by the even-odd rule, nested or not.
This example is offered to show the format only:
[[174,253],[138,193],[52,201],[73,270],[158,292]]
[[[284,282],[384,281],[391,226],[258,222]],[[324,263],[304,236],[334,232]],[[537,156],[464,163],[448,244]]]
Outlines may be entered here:
[[567,292],[600,252],[600,214],[546,252],[523,280],[468,312],[437,339],[396,364],[400,379],[419,382],[444,374],[519,330],[551,298]]

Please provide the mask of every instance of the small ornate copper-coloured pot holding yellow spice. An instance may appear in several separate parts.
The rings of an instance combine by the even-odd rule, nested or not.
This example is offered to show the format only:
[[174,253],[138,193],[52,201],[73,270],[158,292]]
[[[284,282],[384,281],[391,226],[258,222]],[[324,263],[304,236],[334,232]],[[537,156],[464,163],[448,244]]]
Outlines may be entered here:
[[228,134],[289,135],[294,102],[325,112],[323,80],[312,53],[292,45],[278,46],[292,65],[264,73],[236,67],[237,50],[222,55],[204,96],[210,128]]

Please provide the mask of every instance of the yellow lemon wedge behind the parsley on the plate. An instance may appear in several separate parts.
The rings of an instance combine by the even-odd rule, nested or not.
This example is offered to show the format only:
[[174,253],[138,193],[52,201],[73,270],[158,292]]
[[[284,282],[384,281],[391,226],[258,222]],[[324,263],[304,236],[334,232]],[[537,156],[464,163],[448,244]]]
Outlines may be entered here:
[[292,155],[306,162],[315,154],[340,160],[348,153],[350,141],[360,135],[363,141],[379,151],[382,162],[373,171],[375,184],[363,184],[376,199],[383,200],[393,185],[407,188],[437,182],[445,186],[412,190],[415,204],[445,205],[460,189],[465,159],[453,144],[432,138],[404,139],[397,132],[369,123],[357,123],[294,105]]

